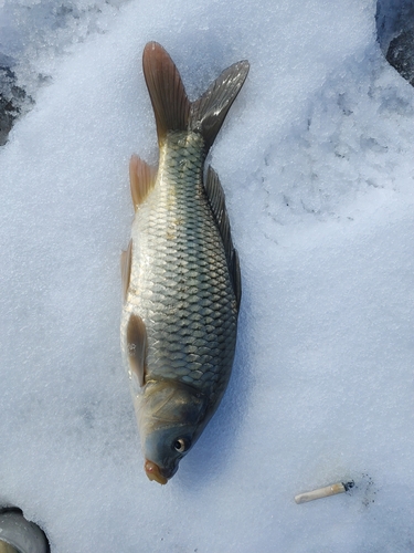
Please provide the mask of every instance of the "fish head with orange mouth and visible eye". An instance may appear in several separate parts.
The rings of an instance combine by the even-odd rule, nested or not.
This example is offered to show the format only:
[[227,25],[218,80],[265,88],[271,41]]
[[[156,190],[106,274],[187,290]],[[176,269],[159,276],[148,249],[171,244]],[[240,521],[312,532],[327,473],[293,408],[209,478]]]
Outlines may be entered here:
[[150,382],[138,410],[138,426],[150,480],[164,484],[178,470],[202,429],[205,396],[180,382]]

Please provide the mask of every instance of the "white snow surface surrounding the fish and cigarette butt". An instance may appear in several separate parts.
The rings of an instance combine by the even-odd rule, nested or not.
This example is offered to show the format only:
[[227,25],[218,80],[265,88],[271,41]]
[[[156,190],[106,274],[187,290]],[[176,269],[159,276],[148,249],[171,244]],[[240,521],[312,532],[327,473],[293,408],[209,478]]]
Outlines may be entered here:
[[[49,85],[0,153],[0,503],[53,553],[413,551],[414,91],[375,2],[109,8],[105,32],[81,29],[87,10],[62,41],[45,21]],[[148,40],[192,97],[251,62],[211,153],[242,264],[233,376],[166,487],[144,473],[119,351],[128,159],[157,158]]]

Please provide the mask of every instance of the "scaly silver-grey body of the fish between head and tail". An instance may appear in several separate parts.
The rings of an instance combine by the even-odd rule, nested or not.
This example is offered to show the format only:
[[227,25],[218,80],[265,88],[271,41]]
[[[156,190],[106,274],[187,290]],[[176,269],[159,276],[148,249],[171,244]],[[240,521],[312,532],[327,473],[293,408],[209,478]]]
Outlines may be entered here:
[[[215,395],[230,376],[229,341],[235,343],[237,310],[202,185],[204,150],[201,135],[169,133],[153,192],[140,206],[131,233],[138,251],[130,286],[142,292],[131,294],[125,309],[134,305],[131,311],[146,324],[147,380],[178,377],[195,387],[209,386]],[[144,249],[152,252],[147,262]]]

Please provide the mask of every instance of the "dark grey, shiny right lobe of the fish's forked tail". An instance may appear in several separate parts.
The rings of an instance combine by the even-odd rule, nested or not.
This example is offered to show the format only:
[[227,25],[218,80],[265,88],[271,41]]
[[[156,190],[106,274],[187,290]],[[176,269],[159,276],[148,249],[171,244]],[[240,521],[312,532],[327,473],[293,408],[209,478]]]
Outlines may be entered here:
[[241,91],[248,69],[246,60],[234,63],[223,71],[201,98],[191,104],[190,128],[203,135],[208,149],[211,148],[231,105]]

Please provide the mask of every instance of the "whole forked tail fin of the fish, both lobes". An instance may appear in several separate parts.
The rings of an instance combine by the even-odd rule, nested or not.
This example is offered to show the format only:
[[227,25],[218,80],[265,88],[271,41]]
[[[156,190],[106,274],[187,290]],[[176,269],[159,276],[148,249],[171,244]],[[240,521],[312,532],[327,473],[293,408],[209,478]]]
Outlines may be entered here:
[[142,55],[144,75],[157,123],[158,142],[168,131],[193,131],[204,137],[209,150],[248,73],[248,62],[234,63],[191,103],[176,64],[157,42],[149,42]]

